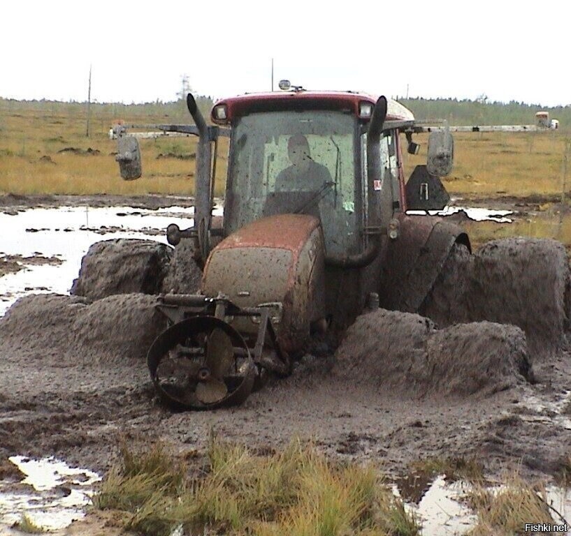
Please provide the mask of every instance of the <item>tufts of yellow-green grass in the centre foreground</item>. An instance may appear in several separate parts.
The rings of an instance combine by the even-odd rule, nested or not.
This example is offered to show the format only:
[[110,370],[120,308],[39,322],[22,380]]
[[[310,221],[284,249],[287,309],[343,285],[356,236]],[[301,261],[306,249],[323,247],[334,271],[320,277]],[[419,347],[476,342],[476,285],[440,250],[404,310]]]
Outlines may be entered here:
[[181,468],[163,448],[124,451],[94,504],[122,510],[124,528],[146,535],[167,535],[178,526],[187,534],[419,533],[373,466],[334,463],[299,440],[257,456],[213,439],[203,476],[181,481]]

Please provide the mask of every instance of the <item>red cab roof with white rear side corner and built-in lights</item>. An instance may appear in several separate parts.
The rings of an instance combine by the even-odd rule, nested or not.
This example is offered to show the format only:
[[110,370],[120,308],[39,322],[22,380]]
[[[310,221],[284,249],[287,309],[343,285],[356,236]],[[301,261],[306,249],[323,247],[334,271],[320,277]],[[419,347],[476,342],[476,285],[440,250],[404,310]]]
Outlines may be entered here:
[[[272,91],[251,93],[236,97],[223,98],[212,107],[212,121],[217,124],[231,124],[237,117],[254,112],[277,112],[284,110],[347,110],[359,116],[359,105],[375,105],[377,98],[366,93],[354,91]],[[402,104],[387,98],[389,121],[414,121],[412,112]],[[215,117],[215,108],[226,106],[226,119]],[[363,118],[362,118],[363,119]]]

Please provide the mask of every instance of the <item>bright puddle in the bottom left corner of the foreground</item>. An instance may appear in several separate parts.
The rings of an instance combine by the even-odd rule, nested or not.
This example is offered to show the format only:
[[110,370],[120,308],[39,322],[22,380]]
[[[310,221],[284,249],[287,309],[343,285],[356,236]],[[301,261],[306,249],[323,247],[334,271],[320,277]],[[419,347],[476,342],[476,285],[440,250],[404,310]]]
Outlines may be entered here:
[[53,458],[12,456],[9,460],[26,477],[19,484],[0,481],[0,527],[13,526],[23,514],[43,530],[65,528],[85,517],[92,486],[101,480],[96,472]]

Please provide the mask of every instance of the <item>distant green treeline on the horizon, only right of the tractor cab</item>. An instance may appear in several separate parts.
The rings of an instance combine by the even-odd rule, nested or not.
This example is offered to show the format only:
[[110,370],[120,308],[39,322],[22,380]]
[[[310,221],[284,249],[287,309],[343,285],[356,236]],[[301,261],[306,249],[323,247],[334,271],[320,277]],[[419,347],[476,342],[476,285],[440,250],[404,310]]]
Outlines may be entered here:
[[447,119],[451,125],[533,124],[535,112],[540,110],[549,112],[550,119],[558,119],[562,128],[569,128],[571,125],[571,105],[550,108],[516,101],[491,103],[489,101],[458,101],[453,98],[397,98],[397,100],[410,108],[416,119],[427,121]]

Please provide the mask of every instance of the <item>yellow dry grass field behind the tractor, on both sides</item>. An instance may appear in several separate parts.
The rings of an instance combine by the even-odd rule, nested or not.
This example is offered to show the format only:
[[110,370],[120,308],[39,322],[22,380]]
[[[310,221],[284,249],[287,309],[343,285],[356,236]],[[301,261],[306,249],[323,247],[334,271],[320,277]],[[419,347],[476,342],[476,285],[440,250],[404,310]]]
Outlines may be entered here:
[[[161,111],[162,110],[162,111]],[[157,160],[159,154],[192,154],[196,138],[144,140],[143,178],[122,181],[113,157],[115,142],[108,139],[113,122],[191,122],[187,113],[173,114],[166,105],[145,108],[95,107],[92,135],[85,136],[85,109],[66,103],[15,103],[0,99],[0,193],[177,193],[194,191],[194,161],[178,158]],[[489,198],[540,193],[559,195],[562,188],[562,131],[545,133],[461,133],[455,135],[455,168],[444,180],[453,195]],[[418,136],[419,156],[405,155],[406,175],[426,161],[426,136]],[[65,147],[97,149],[97,156],[59,154]],[[219,147],[217,177],[226,177],[228,140]],[[54,163],[42,161],[49,157]],[[571,181],[571,177],[570,177]],[[224,184],[217,181],[217,195]],[[570,188],[570,185],[566,186]]]

